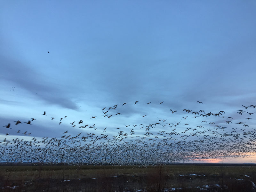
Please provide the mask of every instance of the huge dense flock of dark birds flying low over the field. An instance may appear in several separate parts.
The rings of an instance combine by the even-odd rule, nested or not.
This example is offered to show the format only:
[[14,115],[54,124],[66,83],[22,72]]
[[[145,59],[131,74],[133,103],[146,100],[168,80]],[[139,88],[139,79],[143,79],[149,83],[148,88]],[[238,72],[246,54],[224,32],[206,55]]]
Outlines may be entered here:
[[[197,103],[203,108],[201,101]],[[130,107],[139,104],[139,101],[135,101]],[[151,102],[146,104],[152,105]],[[164,101],[159,104],[164,105]],[[123,113],[117,112],[117,109],[126,105],[129,104],[101,108],[102,116],[108,119],[121,116]],[[0,161],[148,165],[255,155],[256,126],[250,121],[255,114],[251,110],[256,105],[242,107],[231,116],[223,110],[213,113],[205,109],[169,109],[170,118],[166,119],[150,118],[148,110],[148,114],[140,115],[141,122],[137,124],[121,124],[110,128],[98,126],[98,116],[90,117],[90,120],[95,121],[93,124],[80,119],[67,123],[68,116],[63,116],[57,124],[64,124],[65,130],[61,131],[59,137],[52,138],[47,135],[35,137],[32,132],[19,130],[23,123],[36,126],[36,118],[48,118],[49,121],[57,119],[48,117],[44,111],[39,117],[30,118],[27,122],[17,120],[15,124],[3,125],[1,132],[5,134],[0,134],[0,138],[3,137],[0,140]],[[239,120],[233,119],[235,114],[239,114]],[[178,120],[174,121],[172,116]],[[66,130],[68,126],[72,130]],[[11,129],[15,129],[15,134],[8,132]],[[79,132],[72,135],[71,132],[75,130]],[[19,134],[26,137],[19,138]]]

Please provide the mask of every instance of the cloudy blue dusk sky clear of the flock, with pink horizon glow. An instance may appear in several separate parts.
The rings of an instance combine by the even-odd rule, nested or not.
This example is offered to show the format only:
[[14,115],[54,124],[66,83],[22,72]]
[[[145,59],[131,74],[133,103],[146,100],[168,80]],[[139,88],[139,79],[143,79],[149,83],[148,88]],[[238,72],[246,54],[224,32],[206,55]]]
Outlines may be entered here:
[[[255,1],[2,1],[0,7],[0,140],[19,135],[18,119],[35,118],[20,130],[38,138],[76,134],[69,123],[80,119],[115,134],[115,127],[159,118],[179,122],[184,108],[224,110],[239,122],[236,111],[256,105]],[[122,115],[106,119],[102,108],[116,104]],[[8,123],[13,129],[3,127]],[[250,119],[250,129],[255,123]],[[256,163],[256,157],[220,161]]]

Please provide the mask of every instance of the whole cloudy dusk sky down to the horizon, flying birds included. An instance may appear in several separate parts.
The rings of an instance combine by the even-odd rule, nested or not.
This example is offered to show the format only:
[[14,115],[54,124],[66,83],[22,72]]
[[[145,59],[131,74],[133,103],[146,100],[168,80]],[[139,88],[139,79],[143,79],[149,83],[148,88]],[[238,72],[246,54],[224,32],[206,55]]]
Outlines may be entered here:
[[1,161],[256,163],[255,9],[4,1]]

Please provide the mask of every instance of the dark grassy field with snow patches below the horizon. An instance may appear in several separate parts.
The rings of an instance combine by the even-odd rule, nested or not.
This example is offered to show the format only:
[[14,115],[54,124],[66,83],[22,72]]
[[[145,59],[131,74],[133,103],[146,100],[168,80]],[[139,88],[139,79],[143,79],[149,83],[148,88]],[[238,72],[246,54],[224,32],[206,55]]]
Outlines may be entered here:
[[0,191],[255,191],[256,166],[0,166]]

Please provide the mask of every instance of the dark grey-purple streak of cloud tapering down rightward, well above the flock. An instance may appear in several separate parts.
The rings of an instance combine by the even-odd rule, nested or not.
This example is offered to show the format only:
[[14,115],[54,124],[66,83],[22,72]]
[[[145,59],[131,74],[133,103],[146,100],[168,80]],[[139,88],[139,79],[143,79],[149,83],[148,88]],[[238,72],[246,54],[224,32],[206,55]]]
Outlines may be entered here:
[[69,98],[70,94],[67,91],[47,82],[39,72],[27,67],[20,61],[14,61],[2,55],[0,55],[0,60],[2,61],[0,79],[12,82],[15,86],[27,90],[30,94],[49,104],[74,110],[78,109],[76,103]]

